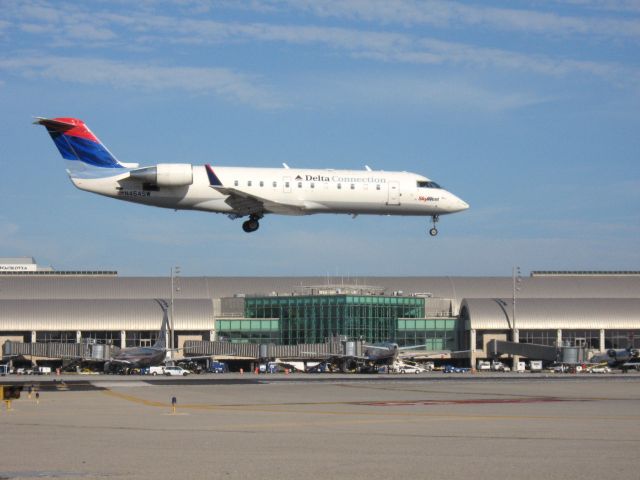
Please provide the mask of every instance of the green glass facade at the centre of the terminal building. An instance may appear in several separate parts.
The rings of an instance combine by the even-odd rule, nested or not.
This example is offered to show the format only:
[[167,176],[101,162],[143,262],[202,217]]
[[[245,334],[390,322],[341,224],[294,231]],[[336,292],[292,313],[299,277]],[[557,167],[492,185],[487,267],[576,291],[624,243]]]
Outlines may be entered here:
[[[362,338],[375,343],[386,340],[408,341],[412,338],[403,324],[403,336],[399,338],[399,319],[424,318],[425,299],[417,297],[383,297],[373,295],[317,295],[292,297],[256,297],[245,299],[247,319],[279,319],[277,327],[271,325],[268,332],[238,329],[248,320],[220,320],[219,335],[235,332],[234,338],[260,341],[256,334],[268,335],[269,341],[282,345],[323,343],[331,338],[345,336]],[[240,322],[235,325],[222,322]],[[225,330],[225,328],[227,328]],[[262,327],[261,327],[262,328]],[[415,330],[414,330],[415,331]],[[415,334],[413,335],[415,337]],[[413,344],[413,340],[410,342]]]

